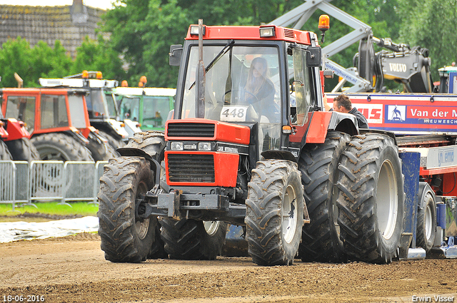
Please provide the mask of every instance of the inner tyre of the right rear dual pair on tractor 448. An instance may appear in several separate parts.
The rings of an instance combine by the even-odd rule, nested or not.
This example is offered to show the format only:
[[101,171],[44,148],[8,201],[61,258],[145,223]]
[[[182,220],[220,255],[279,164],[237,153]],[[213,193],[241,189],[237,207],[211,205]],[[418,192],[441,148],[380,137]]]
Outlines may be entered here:
[[340,262],[343,242],[337,224],[338,210],[333,184],[338,180],[338,164],[351,136],[329,132],[325,143],[306,145],[298,168],[310,224],[303,225],[298,256],[303,262]]

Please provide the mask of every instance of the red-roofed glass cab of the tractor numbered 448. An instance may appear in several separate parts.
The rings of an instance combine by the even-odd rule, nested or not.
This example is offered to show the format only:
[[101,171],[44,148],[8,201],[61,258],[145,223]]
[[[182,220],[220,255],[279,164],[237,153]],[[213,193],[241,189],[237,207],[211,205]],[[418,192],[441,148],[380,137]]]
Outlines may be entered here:
[[308,113],[323,107],[316,35],[278,26],[203,26],[203,31],[201,88],[198,26],[190,27],[184,47],[171,46],[171,65],[181,65],[174,119],[247,125],[256,132],[256,160],[268,150],[298,155],[298,145],[288,140],[293,126],[305,125]]

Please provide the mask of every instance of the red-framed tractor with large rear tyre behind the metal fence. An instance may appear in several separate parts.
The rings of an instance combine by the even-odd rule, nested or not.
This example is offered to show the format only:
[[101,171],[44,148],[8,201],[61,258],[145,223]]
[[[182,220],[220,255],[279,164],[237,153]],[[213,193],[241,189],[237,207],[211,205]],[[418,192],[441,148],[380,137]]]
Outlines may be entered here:
[[24,121],[38,150],[37,160],[116,157],[116,150],[89,123],[86,93],[82,88],[1,88],[1,112]]

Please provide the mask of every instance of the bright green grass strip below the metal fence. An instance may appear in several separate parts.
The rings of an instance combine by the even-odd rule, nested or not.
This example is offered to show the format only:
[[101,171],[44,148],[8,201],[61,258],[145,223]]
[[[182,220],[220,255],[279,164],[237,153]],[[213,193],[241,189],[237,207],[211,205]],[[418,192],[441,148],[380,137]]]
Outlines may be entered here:
[[[16,216],[19,214],[28,213],[41,213],[46,215],[82,215],[82,216],[96,216],[99,210],[99,205],[94,203],[89,204],[88,202],[69,202],[68,205],[59,205],[59,202],[34,202],[36,207],[31,205],[16,204],[16,208],[13,210],[11,204],[0,204],[0,216]],[[20,207],[18,207],[20,206]]]

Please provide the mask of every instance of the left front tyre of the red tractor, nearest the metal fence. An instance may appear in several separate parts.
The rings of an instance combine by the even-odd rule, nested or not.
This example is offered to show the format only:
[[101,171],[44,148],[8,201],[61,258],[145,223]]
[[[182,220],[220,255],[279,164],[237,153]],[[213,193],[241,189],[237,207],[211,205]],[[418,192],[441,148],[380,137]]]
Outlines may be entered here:
[[142,262],[156,239],[156,217],[135,216],[136,199],[154,186],[149,161],[139,157],[112,158],[104,166],[99,191],[99,235],[105,259]]

